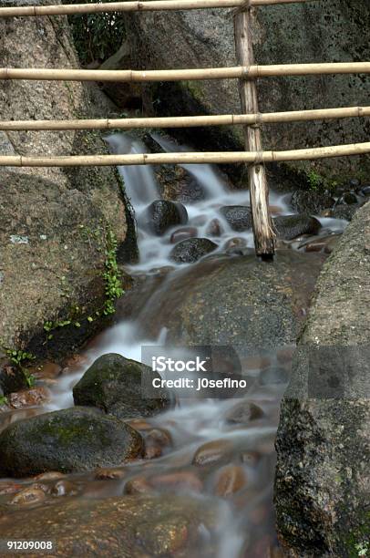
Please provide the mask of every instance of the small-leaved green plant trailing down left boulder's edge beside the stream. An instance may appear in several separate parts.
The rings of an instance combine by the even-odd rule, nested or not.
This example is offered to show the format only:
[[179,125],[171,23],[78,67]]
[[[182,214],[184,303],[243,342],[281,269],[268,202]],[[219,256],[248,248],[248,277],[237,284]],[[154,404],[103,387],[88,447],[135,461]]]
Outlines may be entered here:
[[111,315],[115,313],[114,301],[124,293],[121,286],[121,274],[117,263],[117,239],[113,231],[108,229],[106,236],[106,260],[103,279],[105,281],[106,301],[103,314]]

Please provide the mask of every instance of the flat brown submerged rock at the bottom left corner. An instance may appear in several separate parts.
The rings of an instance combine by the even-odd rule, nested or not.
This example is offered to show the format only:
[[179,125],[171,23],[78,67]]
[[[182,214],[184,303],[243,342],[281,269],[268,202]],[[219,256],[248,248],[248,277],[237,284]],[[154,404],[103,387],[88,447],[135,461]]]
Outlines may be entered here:
[[47,506],[14,509],[12,514],[3,515],[0,537],[29,540],[32,532],[35,540],[44,540],[47,533],[48,540],[57,541],[56,557],[98,552],[110,558],[211,558],[215,554],[202,533],[208,532],[211,539],[216,536],[216,515],[208,499],[185,495],[56,499]]

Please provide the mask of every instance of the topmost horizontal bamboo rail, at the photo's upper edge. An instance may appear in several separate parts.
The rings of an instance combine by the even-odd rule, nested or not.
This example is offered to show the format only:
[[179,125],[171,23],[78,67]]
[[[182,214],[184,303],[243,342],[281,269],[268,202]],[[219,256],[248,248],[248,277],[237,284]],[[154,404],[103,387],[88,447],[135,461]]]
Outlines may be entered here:
[[[303,4],[313,1],[317,0],[251,0],[251,5]],[[199,10],[204,8],[240,7],[244,3],[245,0],[158,0],[153,2],[109,2],[104,4],[22,5],[0,8],[0,17]]]

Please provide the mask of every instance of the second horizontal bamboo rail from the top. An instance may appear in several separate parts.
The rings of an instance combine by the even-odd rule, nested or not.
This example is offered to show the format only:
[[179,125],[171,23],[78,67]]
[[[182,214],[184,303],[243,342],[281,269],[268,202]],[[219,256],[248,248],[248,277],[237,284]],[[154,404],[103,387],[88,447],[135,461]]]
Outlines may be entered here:
[[279,64],[272,66],[206,67],[170,70],[87,70],[58,68],[0,68],[0,79],[51,81],[181,81],[198,79],[248,79],[324,74],[370,74],[370,62]]

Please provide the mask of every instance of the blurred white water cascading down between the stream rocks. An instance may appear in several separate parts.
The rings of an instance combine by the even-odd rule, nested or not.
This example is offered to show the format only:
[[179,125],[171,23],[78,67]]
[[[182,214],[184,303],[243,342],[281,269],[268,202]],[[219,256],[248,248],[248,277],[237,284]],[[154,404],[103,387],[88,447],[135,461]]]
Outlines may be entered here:
[[[153,136],[153,138],[165,150],[179,150],[170,140],[163,140],[159,136]],[[110,149],[116,153],[138,153],[145,150],[142,143],[132,140],[127,135],[111,135],[107,140]],[[216,253],[223,253],[225,244],[235,237],[241,238],[246,247],[252,248],[252,233],[235,233],[219,211],[223,205],[249,205],[248,192],[229,190],[221,173],[211,165],[186,165],[184,168],[199,182],[205,193],[204,200],[186,204],[189,225],[197,228],[197,236],[209,237],[217,243]],[[128,196],[136,212],[142,212],[150,202],[159,199],[159,186],[154,171],[150,167],[121,167],[119,172],[124,178]],[[286,196],[272,192],[270,203],[274,207],[272,213],[292,213],[286,202]],[[213,219],[218,219],[221,223],[221,235],[218,237],[210,237],[207,232]],[[345,223],[327,219],[321,219],[321,222],[325,228],[330,228],[332,231],[342,231]],[[169,259],[170,251],[173,248],[173,244],[170,243],[171,233],[172,231],[161,238],[139,230],[140,260],[139,264],[132,267],[130,271],[142,274],[169,266],[169,264],[178,267]],[[186,266],[182,267],[186,268]],[[166,284],[164,288],[166,288]],[[155,297],[156,293],[153,296]],[[150,305],[151,300],[150,297],[147,305]],[[75,368],[73,373],[62,377],[58,381],[57,387],[53,388],[49,408],[67,408],[73,405],[72,387],[98,356],[106,353],[118,353],[140,361],[141,346],[164,345],[166,340],[164,328],[157,339],[145,339],[140,335],[140,323],[145,321],[145,315],[144,306],[137,314],[135,321],[115,325],[100,336],[94,346],[87,348],[83,355],[83,364],[77,369]],[[275,355],[271,356],[271,360],[272,366],[276,366]],[[259,370],[252,370],[250,374],[252,377],[258,377]],[[277,412],[283,393],[282,389],[283,387],[257,385],[251,388],[246,399],[261,404],[266,413],[270,412],[270,408],[275,408],[275,412]],[[176,471],[179,470],[179,467],[189,468],[194,452],[201,444],[211,440],[228,440],[235,448],[247,450],[259,449],[266,443],[272,445],[276,422],[272,420],[272,424],[256,428],[252,428],[251,425],[231,428],[225,418],[233,405],[235,405],[235,399],[180,399],[180,405],[176,408],[151,419],[150,422],[153,425],[170,431],[174,446],[169,454],[146,463],[145,474],[155,471]],[[274,420],[276,421],[276,419],[275,417]],[[236,463],[239,462],[236,461]],[[140,470],[141,467],[141,462],[132,465],[133,470]],[[261,470],[253,469],[249,464],[243,464],[242,467],[249,479],[249,484],[254,486],[251,493],[247,492],[242,509],[238,508],[237,503],[235,503],[236,509],[234,509],[231,501],[225,502],[214,497],[215,509],[218,509],[220,514],[218,549],[215,558],[224,558],[226,555],[228,558],[244,556],[245,546],[252,539],[256,530],[252,523],[253,511],[261,505],[272,506],[272,471],[269,466],[263,465]],[[265,468],[267,468],[267,472]]]

